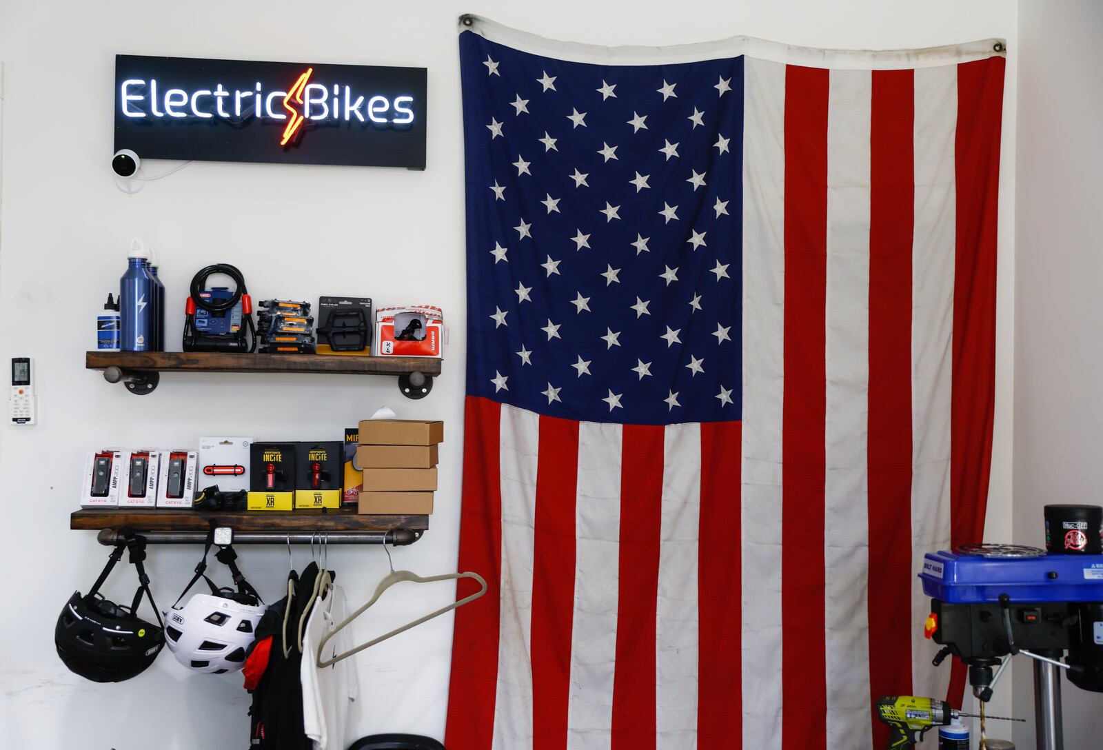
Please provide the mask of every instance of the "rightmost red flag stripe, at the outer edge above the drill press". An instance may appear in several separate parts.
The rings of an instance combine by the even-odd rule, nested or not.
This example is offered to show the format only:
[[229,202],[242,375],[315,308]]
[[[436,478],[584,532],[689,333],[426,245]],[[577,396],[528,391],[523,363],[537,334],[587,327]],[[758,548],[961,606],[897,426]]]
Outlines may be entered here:
[[[950,422],[951,544],[979,542],[988,501],[996,401],[996,215],[1003,57],[957,66],[957,239]],[[965,667],[954,660],[955,705]]]

